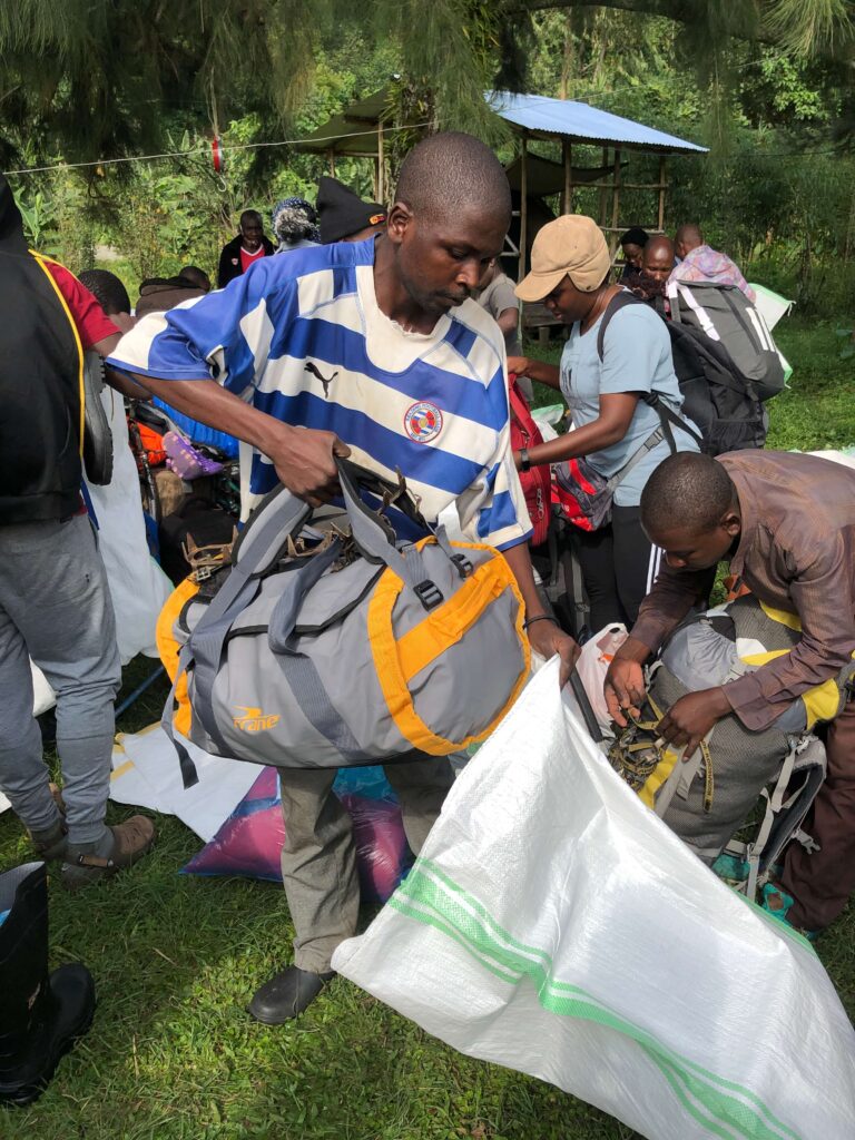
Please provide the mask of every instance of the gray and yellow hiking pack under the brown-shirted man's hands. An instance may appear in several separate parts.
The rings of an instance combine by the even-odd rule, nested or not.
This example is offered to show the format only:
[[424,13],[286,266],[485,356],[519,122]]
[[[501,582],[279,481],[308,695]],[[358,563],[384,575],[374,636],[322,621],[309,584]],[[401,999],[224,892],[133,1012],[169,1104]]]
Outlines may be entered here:
[[[789,653],[801,629],[792,613],[746,595],[687,619],[650,667],[648,695],[637,719],[618,735],[609,759],[641,799],[702,858],[723,853],[747,864],[754,897],[790,839],[808,848],[801,830],[825,774],[825,749],[814,727],[832,720],[850,695],[855,662],[797,698],[762,732],[735,714],[714,726],[694,755],[659,739],[662,716],[690,692],[716,687]],[[755,838],[732,841],[758,800],[765,801]]]

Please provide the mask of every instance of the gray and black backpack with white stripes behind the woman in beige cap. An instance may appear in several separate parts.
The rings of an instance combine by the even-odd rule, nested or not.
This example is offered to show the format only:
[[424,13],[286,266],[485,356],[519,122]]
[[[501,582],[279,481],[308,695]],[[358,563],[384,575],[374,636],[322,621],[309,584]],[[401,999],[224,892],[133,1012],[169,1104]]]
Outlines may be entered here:
[[[665,325],[683,413],[700,429],[701,450],[723,455],[763,447],[768,426],[763,404],[784,385],[781,358],[763,316],[732,285],[670,282],[667,296],[670,320]],[[613,299],[597,334],[601,360],[614,314],[644,303],[629,293]]]

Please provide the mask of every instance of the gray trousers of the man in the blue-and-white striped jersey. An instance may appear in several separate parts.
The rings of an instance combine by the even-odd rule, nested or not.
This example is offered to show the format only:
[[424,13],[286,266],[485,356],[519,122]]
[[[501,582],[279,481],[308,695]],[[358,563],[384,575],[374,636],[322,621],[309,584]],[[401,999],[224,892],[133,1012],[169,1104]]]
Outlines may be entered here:
[[[335,769],[282,772],[285,844],[282,878],[294,923],[294,964],[329,969],[340,942],[356,934],[359,879],[350,816],[333,793]],[[445,758],[402,760],[385,767],[398,795],[404,830],[418,854],[454,783]]]

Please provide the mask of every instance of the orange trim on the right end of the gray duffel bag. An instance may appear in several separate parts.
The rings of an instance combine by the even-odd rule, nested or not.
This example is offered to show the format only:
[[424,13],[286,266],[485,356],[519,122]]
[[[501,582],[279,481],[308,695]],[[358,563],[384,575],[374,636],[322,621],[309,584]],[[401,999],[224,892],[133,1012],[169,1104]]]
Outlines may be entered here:
[[[435,542],[433,538],[423,539],[417,546],[421,549],[427,543],[433,542]],[[393,570],[383,572],[368,605],[368,641],[372,646],[380,687],[390,716],[404,739],[414,748],[427,752],[430,756],[447,756],[449,752],[486,740],[520,695],[528,678],[531,659],[529,642],[523,628],[526,606],[507,562],[489,546],[472,543],[453,543],[451,545],[457,549],[488,551],[492,557],[479,567],[472,578],[467,579],[464,586],[439,610],[429,613],[424,621],[405,634],[400,642],[396,641],[394,637],[392,610],[398,595],[404,589],[404,580]],[[480,577],[478,577],[479,575]],[[470,586],[469,584],[477,577],[475,585]],[[478,603],[498,597],[505,589],[511,589],[519,603],[514,627],[522,649],[522,669],[507,702],[482,732],[466,736],[465,740],[446,740],[432,732],[416,712],[413,697],[407,687],[408,682],[420,669],[434,661],[449,645],[459,641],[465,632],[474,625],[483,608],[481,605],[477,609]],[[448,636],[445,644],[439,641],[439,637],[443,635]],[[489,668],[489,662],[484,662],[484,668]]]

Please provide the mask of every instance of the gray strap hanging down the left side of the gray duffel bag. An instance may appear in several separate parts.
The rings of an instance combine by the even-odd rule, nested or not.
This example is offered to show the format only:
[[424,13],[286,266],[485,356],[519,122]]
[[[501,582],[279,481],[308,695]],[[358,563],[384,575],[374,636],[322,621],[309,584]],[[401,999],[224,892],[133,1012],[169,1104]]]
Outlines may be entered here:
[[197,783],[198,774],[187,749],[176,741],[172,732],[176,686],[193,663],[195,703],[206,731],[218,748],[228,754],[225,743],[217,738],[215,720],[211,709],[211,693],[220,667],[226,635],[237,614],[254,597],[261,576],[275,564],[287,544],[288,536],[302,528],[310,513],[308,503],[282,486],[261,500],[235,544],[231,553],[233,565],[226,581],[181,650],[178,671],[172,691],[166,698],[161,723],[178,751],[185,788],[192,788]]

